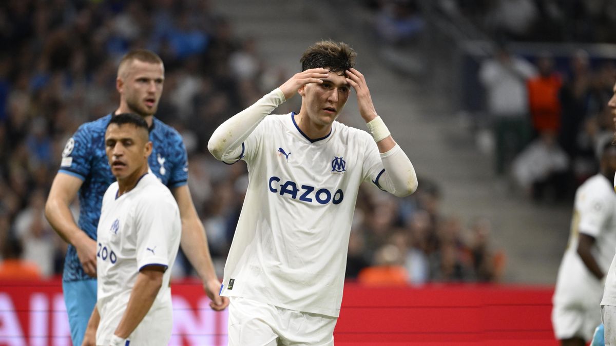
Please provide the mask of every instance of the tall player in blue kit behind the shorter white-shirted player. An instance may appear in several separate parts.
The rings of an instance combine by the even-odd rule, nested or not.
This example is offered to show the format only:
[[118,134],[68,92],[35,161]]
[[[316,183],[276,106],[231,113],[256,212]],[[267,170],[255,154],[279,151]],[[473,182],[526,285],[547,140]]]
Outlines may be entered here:
[[[105,129],[111,116],[136,113],[150,127],[153,143],[148,164],[153,174],[171,190],[182,219],[181,247],[197,270],[214,310],[229,304],[218,294],[208,243],[188,190],[188,158],[182,137],[172,127],[154,118],[163,92],[164,66],[149,50],[132,50],[118,66],[116,89],[120,107],[100,119],[85,123],[71,137],[60,170],[52,183],[45,215],[54,230],[69,244],[62,275],[73,345],[81,345],[87,321],[96,303],[96,230],[105,191],[115,177],[105,155]],[[79,195],[79,222],[75,223],[69,205]]]

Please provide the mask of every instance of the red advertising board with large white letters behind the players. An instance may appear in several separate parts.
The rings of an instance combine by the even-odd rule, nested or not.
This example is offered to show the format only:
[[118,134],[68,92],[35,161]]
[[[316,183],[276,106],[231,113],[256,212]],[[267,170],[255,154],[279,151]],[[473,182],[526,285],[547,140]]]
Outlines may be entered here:
[[[227,345],[227,312],[214,312],[198,281],[172,283],[170,345]],[[557,345],[551,288],[347,283],[336,345]],[[0,346],[68,346],[59,280],[0,282]]]

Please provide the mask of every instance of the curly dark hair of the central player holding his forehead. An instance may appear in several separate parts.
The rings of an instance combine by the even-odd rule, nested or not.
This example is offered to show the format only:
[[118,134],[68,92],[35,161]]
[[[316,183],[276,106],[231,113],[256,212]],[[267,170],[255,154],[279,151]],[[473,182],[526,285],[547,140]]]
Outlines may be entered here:
[[320,41],[308,47],[299,62],[302,71],[322,67],[332,72],[344,72],[355,66],[355,57],[355,50],[344,42]]

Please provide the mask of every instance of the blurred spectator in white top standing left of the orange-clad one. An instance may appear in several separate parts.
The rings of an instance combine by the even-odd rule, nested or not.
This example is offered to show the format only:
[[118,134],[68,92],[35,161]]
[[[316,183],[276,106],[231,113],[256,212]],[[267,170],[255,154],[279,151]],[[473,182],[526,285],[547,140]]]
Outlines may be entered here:
[[528,143],[527,80],[535,76],[535,68],[511,55],[502,44],[493,58],[485,60],[479,79],[487,92],[488,113],[492,117],[496,141],[496,174],[505,173],[509,163]]

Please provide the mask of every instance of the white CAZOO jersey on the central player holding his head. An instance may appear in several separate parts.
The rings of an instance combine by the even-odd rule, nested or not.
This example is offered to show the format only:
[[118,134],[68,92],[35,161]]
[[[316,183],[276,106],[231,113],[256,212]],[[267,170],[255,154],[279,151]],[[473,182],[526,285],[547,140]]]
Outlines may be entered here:
[[384,172],[375,141],[337,121],[310,140],[291,113],[242,145],[249,183],[221,296],[337,317],[359,185]]

